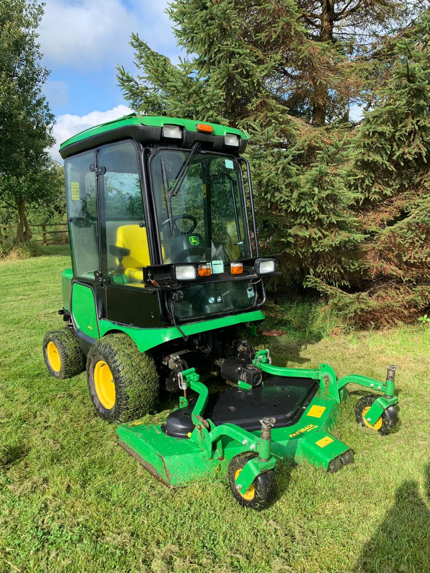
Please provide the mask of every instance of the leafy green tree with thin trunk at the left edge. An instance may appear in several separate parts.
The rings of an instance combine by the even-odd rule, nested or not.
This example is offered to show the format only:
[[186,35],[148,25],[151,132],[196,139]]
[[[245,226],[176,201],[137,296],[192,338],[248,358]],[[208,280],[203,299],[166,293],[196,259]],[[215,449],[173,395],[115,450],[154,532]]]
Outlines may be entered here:
[[60,183],[47,151],[54,116],[42,93],[49,74],[37,43],[42,14],[36,0],[0,0],[0,216],[18,218],[19,241],[31,238],[26,203],[49,210]]

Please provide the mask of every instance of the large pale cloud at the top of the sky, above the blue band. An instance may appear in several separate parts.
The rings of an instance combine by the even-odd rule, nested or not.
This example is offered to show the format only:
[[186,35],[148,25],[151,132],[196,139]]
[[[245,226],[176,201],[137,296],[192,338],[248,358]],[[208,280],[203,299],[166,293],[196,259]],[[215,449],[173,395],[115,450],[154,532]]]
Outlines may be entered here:
[[83,72],[103,65],[127,65],[128,45],[138,32],[151,48],[176,54],[175,38],[163,10],[167,0],[49,0],[39,28],[40,43],[48,63]]

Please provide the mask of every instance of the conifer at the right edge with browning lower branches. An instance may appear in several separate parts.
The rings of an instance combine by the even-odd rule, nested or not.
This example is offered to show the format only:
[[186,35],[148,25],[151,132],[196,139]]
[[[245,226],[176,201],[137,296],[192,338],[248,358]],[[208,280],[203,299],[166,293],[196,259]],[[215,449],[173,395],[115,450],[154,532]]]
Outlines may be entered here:
[[368,235],[360,272],[349,293],[325,288],[363,324],[408,320],[430,304],[430,15],[386,49],[394,55],[388,80],[351,139],[344,171]]

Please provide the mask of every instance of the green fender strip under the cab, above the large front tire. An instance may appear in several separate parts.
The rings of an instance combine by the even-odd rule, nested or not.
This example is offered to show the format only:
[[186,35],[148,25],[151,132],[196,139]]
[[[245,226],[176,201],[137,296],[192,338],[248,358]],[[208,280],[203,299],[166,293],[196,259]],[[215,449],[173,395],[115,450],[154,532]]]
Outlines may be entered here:
[[[147,295],[144,295],[147,296]],[[73,313],[74,316],[74,313]],[[252,323],[255,320],[264,320],[264,314],[261,311],[243,312],[239,315],[222,316],[217,319],[201,320],[199,322],[181,324],[181,329],[186,335],[197,334],[198,332],[205,332],[214,330],[216,328],[223,328],[232,326],[234,324]],[[138,328],[131,326],[124,326],[116,324],[110,320],[101,319],[99,321],[100,336],[104,336],[110,331],[122,331],[128,334],[134,340],[140,352],[145,352],[154,348],[163,342],[169,342],[175,338],[181,338],[182,335],[176,327],[167,328]]]

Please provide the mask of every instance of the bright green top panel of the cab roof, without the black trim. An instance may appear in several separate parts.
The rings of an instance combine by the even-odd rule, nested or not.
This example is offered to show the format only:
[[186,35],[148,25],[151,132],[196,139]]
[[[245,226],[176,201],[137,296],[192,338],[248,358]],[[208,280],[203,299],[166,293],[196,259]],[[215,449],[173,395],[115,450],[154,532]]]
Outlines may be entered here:
[[[71,143],[79,142],[83,139],[90,138],[93,135],[102,134],[104,132],[110,131],[111,129],[116,129],[118,127],[123,127],[125,125],[152,125],[154,127],[163,127],[163,125],[182,125],[187,131],[197,132],[197,121],[192,119],[180,119],[178,117],[161,117],[156,115],[141,115],[140,113],[130,113],[124,117],[120,117],[114,121],[107,121],[106,123],[101,123],[95,125],[89,129],[81,131],[79,134],[74,135],[72,138],[67,139],[60,146],[60,151],[70,145]],[[233,127],[226,127],[225,125],[219,125],[217,123],[209,123],[208,121],[200,122],[208,125],[212,125],[213,132],[212,135],[226,135],[226,134],[236,134],[242,139],[249,139],[249,135],[240,129]]]

